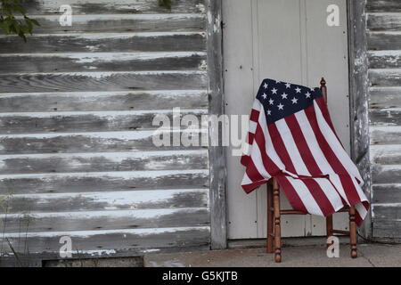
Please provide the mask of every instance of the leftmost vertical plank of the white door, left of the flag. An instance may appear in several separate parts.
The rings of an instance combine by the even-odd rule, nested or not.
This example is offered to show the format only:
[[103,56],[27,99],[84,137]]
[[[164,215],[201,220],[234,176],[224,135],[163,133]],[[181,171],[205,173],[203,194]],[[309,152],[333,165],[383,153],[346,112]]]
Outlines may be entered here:
[[[225,114],[228,116],[249,115],[255,98],[251,1],[225,1],[223,11]],[[240,126],[238,130],[241,130]],[[256,238],[256,191],[246,194],[241,189],[244,168],[240,164],[240,157],[233,156],[232,147],[227,147],[226,161],[228,237],[230,239]]]

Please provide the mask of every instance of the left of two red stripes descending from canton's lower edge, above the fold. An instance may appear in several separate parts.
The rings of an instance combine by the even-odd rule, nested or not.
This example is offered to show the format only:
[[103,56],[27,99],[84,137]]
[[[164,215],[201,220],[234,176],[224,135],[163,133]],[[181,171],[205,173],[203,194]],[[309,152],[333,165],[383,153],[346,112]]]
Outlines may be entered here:
[[307,140],[302,133],[302,130],[295,115],[287,116],[285,118],[285,122],[290,128],[292,137],[294,138],[294,142],[296,142],[297,148],[299,150],[299,154],[301,155],[302,160],[304,160],[305,166],[307,167],[309,173],[312,176],[322,175],[322,171],[317,166],[316,160],[312,155],[309,146],[307,145]]

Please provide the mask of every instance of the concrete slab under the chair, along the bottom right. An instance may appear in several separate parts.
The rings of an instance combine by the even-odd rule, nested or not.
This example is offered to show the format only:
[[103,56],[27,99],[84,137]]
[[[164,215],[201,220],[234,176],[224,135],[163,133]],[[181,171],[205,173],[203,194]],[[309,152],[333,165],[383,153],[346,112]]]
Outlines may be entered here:
[[282,248],[282,263],[276,264],[266,248],[234,248],[144,256],[145,267],[277,267],[358,266],[399,267],[401,245],[358,244],[358,257],[349,256],[349,246],[340,245],[340,257],[329,258],[323,245]]

